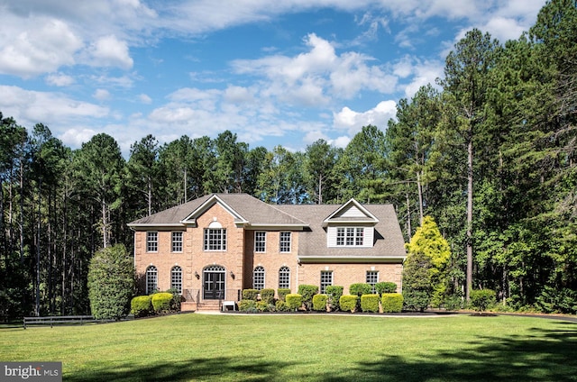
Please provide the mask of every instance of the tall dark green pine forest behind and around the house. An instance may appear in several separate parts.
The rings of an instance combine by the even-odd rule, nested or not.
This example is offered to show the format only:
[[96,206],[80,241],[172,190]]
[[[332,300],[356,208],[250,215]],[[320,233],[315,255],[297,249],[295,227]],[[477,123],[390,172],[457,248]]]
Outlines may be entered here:
[[87,313],[89,260],[111,244],[132,249],[127,223],[239,192],[271,204],[391,203],[407,241],[430,215],[451,250],[441,297],[490,288],[514,308],[574,312],[576,57],[575,1],[548,2],[515,41],[474,29],[436,86],[343,149],[250,148],[225,131],[165,144],[147,135],[124,159],[105,133],[72,150],[49,127],[0,114],[0,315]]

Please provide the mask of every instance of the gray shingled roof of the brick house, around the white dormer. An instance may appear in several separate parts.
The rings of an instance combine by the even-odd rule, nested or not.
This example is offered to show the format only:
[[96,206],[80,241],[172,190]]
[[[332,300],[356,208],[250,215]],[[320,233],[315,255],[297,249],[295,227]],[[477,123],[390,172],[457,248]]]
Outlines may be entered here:
[[[222,200],[251,226],[296,226],[304,229],[299,234],[298,256],[301,259],[399,259],[406,256],[405,242],[392,205],[362,205],[377,217],[375,242],[372,248],[327,248],[323,222],[341,205],[268,205],[247,194],[213,194],[202,196],[183,205],[177,205],[158,214],[138,219],[129,225],[134,229],[150,226],[182,225],[191,214],[201,213],[200,207],[211,198]],[[196,217],[193,215],[192,217]],[[239,218],[240,219],[240,218]],[[349,218],[335,217],[333,221]],[[360,219],[355,218],[355,221]],[[362,219],[361,219],[362,220]]]

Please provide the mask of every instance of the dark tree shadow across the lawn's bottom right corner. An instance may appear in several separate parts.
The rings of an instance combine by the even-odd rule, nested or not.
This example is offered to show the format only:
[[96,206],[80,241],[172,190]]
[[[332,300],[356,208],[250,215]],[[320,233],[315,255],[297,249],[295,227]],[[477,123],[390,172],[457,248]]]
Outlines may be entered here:
[[[488,323],[490,324],[490,323]],[[532,329],[519,338],[481,337],[460,349],[405,359],[383,355],[361,363],[353,372],[359,381],[577,381],[577,324],[558,330]],[[326,377],[325,381],[350,381]]]

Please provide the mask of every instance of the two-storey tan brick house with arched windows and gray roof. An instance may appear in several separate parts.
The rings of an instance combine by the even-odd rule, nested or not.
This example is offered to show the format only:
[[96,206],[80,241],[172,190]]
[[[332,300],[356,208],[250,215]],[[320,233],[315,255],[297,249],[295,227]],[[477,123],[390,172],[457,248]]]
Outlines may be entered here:
[[[213,194],[130,223],[145,293],[177,288],[183,310],[237,301],[245,288],[392,281],[401,288],[404,240],[392,205],[268,205]],[[212,303],[212,304],[211,304]]]

